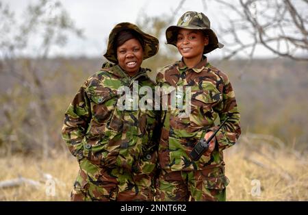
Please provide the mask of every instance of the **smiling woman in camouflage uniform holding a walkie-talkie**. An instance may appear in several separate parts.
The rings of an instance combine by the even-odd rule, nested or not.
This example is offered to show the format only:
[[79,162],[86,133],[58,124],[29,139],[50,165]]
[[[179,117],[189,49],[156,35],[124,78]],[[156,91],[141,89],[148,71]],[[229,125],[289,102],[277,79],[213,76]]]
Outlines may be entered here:
[[[226,74],[207,62],[206,53],[222,48],[209,18],[199,12],[185,12],[177,25],[166,29],[168,44],[181,53],[181,60],[157,73],[161,88],[185,88],[177,94],[191,111],[183,115],[172,107],[163,114],[164,127],[159,143],[158,201],[224,201],[229,179],[224,175],[223,151],[241,134],[240,113],[231,82]],[[186,93],[186,90],[188,93]],[[183,98],[185,97],[185,98]],[[190,97],[190,99],[187,99]],[[168,97],[168,105],[172,104]],[[185,106],[183,105],[183,106]],[[186,112],[186,111],[185,111]],[[190,153],[198,140],[208,139],[227,120],[198,160]]]

